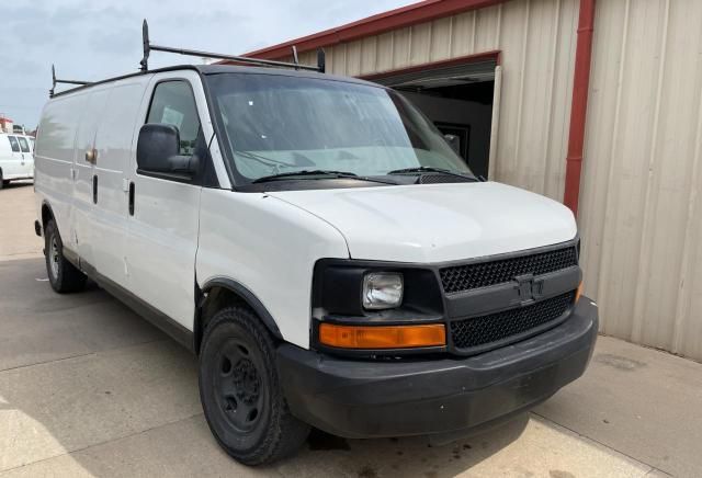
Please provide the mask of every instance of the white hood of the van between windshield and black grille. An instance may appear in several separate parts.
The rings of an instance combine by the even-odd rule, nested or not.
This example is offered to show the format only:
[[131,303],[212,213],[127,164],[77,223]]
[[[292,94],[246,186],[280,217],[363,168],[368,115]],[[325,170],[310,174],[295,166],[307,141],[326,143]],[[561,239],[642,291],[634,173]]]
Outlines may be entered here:
[[271,192],[329,223],[353,259],[444,262],[573,239],[570,209],[495,182]]

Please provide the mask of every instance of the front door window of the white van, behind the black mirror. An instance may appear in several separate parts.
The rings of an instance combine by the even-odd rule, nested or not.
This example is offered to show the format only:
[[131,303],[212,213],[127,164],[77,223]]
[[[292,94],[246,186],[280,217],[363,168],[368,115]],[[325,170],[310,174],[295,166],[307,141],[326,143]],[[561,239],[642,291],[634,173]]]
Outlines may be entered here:
[[190,84],[182,80],[158,83],[146,122],[176,126],[180,133],[180,153],[191,156],[200,133],[200,117]]

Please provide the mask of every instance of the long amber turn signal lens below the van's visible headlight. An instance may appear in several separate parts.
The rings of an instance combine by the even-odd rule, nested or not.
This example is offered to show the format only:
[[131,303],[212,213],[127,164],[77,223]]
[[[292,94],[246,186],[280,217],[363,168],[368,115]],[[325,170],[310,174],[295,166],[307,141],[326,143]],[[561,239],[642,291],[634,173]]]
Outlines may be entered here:
[[442,323],[424,326],[319,325],[319,342],[340,349],[408,349],[442,346],[446,331]]

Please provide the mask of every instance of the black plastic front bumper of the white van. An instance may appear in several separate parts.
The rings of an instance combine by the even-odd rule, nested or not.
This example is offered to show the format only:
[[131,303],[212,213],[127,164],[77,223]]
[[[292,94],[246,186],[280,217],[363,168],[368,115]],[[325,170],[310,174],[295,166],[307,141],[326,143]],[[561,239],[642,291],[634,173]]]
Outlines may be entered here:
[[585,372],[597,306],[525,341],[466,358],[352,361],[285,344],[278,366],[292,412],[346,437],[445,433],[498,422],[540,403]]

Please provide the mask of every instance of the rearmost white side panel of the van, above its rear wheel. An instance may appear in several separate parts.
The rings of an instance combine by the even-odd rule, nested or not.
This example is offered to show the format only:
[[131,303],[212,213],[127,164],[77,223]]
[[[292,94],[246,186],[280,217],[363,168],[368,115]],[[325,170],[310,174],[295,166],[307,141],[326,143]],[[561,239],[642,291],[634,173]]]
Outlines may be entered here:
[[87,94],[57,98],[47,103],[42,114],[34,150],[34,185],[37,217],[47,203],[56,219],[64,246],[76,251],[73,234],[73,180],[76,134]]

